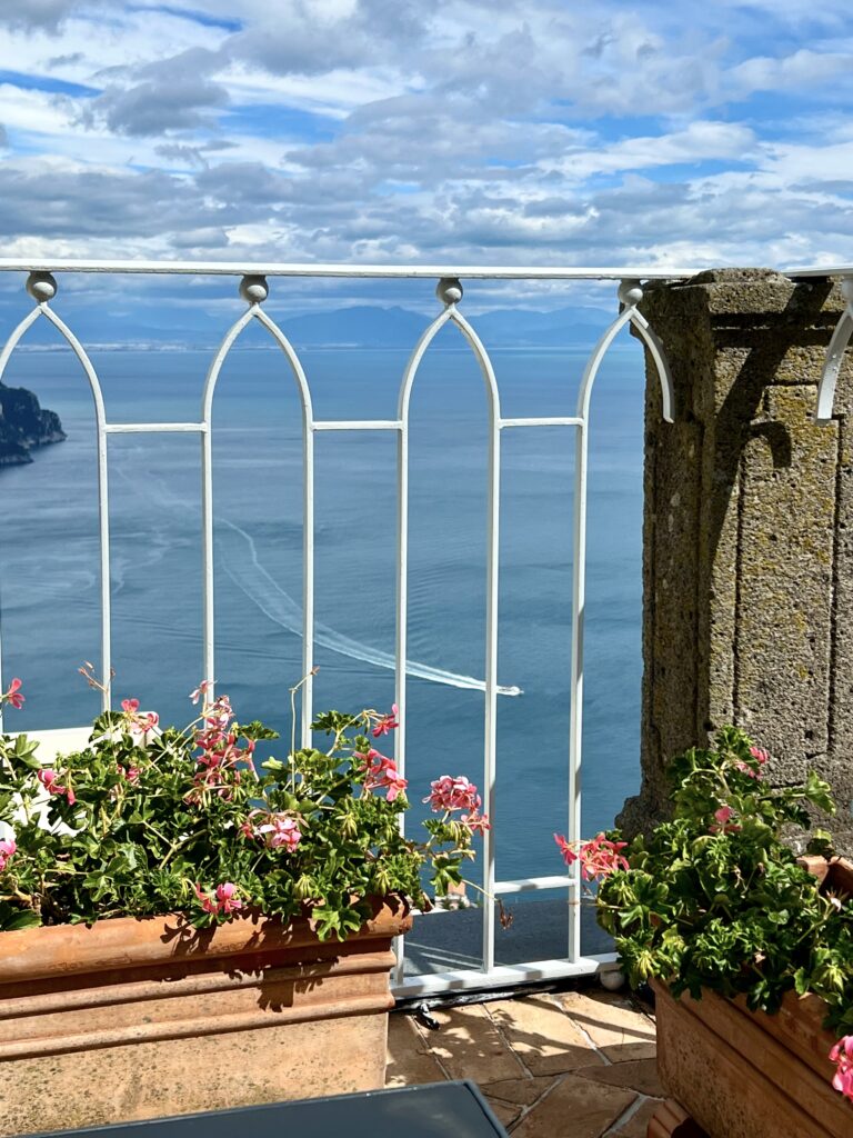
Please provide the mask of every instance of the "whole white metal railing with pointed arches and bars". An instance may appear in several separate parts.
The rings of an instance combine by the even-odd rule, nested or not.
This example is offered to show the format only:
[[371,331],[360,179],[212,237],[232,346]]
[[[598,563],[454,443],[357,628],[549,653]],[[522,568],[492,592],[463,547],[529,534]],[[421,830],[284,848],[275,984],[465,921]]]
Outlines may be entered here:
[[[512,694],[514,690],[502,688],[497,678],[498,646],[498,574],[499,574],[499,517],[500,517],[500,440],[504,430],[562,427],[575,432],[574,450],[574,498],[573,498],[573,586],[572,586],[572,645],[571,645],[571,718],[568,740],[569,818],[568,832],[571,841],[581,836],[581,786],[580,764],[582,745],[583,710],[583,616],[586,603],[586,535],[587,535],[587,461],[589,437],[590,397],[602,362],[616,335],[631,324],[644,341],[653,358],[662,391],[662,411],[672,421],[672,382],[661,345],[638,311],[643,298],[641,281],[674,280],[689,278],[694,270],[648,270],[648,269],[558,269],[558,267],[465,267],[465,266],[376,266],[376,265],[235,265],[229,263],[184,262],[93,262],[53,261],[20,262],[0,259],[0,271],[26,272],[26,288],[35,302],[31,311],[10,333],[0,353],[0,379],[16,345],[39,319],[48,320],[65,338],[80,361],[89,381],[96,410],[98,439],[98,495],[99,495],[99,541],[100,541],[100,615],[101,615],[101,675],[110,675],[110,539],[109,539],[109,493],[108,493],[108,439],[114,435],[139,432],[184,432],[194,434],[201,444],[201,493],[202,514],[202,595],[204,595],[204,660],[202,674],[215,676],[215,597],[214,597],[214,506],[213,506],[213,448],[212,419],[213,402],[217,380],[229,353],[243,330],[257,321],[281,348],[296,380],[303,420],[303,675],[309,678],[301,693],[301,740],[310,741],[314,624],[314,437],[322,431],[380,431],[397,438],[397,612],[396,612],[396,699],[399,708],[399,729],[396,732],[395,758],[401,773],[406,761],[406,687],[407,687],[407,602],[408,602],[408,420],[409,399],[421,363],[431,343],[448,323],[455,324],[467,341],[480,366],[487,391],[489,422],[488,457],[488,538],[487,538],[487,589],[486,589],[486,671],[481,685],[485,695],[485,784],[483,809],[495,818],[494,830],[487,832],[483,851],[483,876],[487,900],[482,906],[482,948],[479,967],[444,973],[428,973],[416,976],[404,974],[403,949],[399,950],[397,990],[401,995],[438,992],[454,988],[485,988],[538,979],[555,979],[596,971],[610,958],[585,956],[580,941],[580,871],[575,863],[565,875],[496,881],[495,847],[499,840],[500,822],[495,810],[497,696]],[[57,294],[55,273],[165,273],[193,275],[234,275],[241,279],[240,294],[248,307],[227,330],[216,352],[204,386],[201,410],[197,422],[108,422],[100,382],[96,369],[84,347],[68,325],[51,307]],[[797,275],[811,271],[804,270]],[[826,274],[828,270],[815,270]],[[846,272],[851,272],[847,270]],[[793,274],[792,274],[793,275]],[[399,388],[397,418],[394,420],[317,420],[314,418],[308,380],[290,341],[279,325],[263,308],[268,295],[268,277],[317,277],[317,278],[431,278],[438,281],[437,295],[441,312],[424,329],[406,364]],[[590,354],[580,385],[577,411],[571,417],[505,418],[500,409],[500,391],[489,354],[472,324],[459,311],[463,298],[461,279],[513,279],[513,280],[608,280],[619,281],[618,298],[621,311],[604,331]],[[845,286],[846,287],[846,286]],[[846,294],[850,296],[850,292]],[[848,310],[844,333],[839,324],[837,336],[853,331],[853,315]],[[844,323],[844,322],[843,322]],[[846,343],[846,339],[844,340]],[[842,351],[843,351],[842,344]],[[837,370],[836,370],[837,374]],[[834,382],[834,380],[833,380]],[[827,395],[831,404],[831,391]],[[2,685],[2,658],[0,653],[0,690]],[[109,685],[103,692],[103,707],[109,706]],[[1,716],[1,710],[0,710]],[[0,728],[2,719],[0,718]],[[502,894],[536,892],[562,888],[569,897],[569,943],[565,957],[533,960],[515,966],[498,966],[495,962],[495,909],[496,898]]]

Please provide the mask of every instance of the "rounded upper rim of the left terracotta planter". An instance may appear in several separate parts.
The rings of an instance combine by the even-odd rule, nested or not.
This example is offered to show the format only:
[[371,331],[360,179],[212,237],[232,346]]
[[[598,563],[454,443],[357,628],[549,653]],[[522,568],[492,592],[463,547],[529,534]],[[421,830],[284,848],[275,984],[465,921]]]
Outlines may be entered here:
[[167,913],[0,932],[0,984],[240,954],[303,948],[346,953],[351,941],[387,940],[412,927],[411,908],[403,898],[373,899],[371,906],[371,918],[345,941],[321,941],[307,918],[284,924],[257,910],[209,929],[193,927],[182,913]]

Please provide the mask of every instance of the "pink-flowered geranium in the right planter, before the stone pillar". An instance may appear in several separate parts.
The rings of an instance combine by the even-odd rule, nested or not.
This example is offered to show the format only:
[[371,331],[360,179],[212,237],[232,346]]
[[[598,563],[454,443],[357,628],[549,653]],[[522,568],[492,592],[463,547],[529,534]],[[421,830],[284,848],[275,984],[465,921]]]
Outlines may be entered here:
[[[820,891],[785,841],[835,803],[813,773],[803,785],[771,787],[767,762],[767,751],[726,727],[712,748],[669,765],[672,818],[651,835],[623,842],[612,831],[577,846],[555,838],[597,882],[598,923],[632,984],[657,978],[695,999],[704,989],[743,993],[768,1013],[788,991],[813,992],[842,1037],[829,1055],[833,1085],[853,1100],[853,905]],[[829,834],[815,831],[806,851],[833,857]]]

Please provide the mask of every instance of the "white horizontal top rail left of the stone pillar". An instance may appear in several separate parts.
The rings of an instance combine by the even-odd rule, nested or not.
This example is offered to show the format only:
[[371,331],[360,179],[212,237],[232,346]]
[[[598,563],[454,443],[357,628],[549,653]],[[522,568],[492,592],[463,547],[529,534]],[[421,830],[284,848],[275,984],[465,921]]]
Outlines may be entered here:
[[198,277],[464,277],[467,280],[681,280],[697,269],[585,269],[561,265],[361,265],[281,264],[242,261],[75,261],[61,257],[0,257],[0,272],[36,273],[175,273]]

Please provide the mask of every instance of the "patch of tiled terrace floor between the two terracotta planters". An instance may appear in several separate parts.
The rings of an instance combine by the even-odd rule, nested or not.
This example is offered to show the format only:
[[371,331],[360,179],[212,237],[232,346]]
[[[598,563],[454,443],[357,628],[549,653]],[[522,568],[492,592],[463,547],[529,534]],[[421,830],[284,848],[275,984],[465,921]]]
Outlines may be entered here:
[[513,1138],[645,1138],[663,1090],[649,1008],[598,988],[395,1013],[388,1087],[472,1079]]

